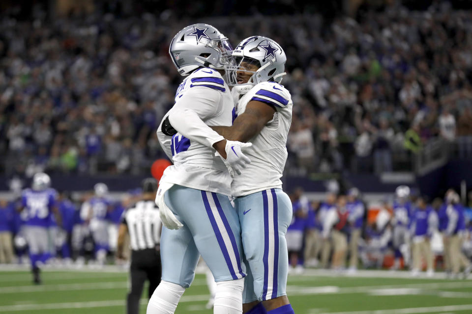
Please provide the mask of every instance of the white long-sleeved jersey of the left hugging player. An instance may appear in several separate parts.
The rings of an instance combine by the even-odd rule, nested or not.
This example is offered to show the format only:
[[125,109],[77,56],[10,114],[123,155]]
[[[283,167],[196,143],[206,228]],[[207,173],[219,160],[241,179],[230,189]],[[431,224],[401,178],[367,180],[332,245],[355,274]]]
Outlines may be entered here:
[[231,176],[211,148],[224,138],[207,127],[232,125],[234,101],[228,85],[217,71],[201,68],[183,80],[175,100],[164,119],[169,116],[172,126],[181,133],[172,137],[162,133],[164,119],[157,130],[159,143],[174,161],[164,171],[161,182],[231,195]]

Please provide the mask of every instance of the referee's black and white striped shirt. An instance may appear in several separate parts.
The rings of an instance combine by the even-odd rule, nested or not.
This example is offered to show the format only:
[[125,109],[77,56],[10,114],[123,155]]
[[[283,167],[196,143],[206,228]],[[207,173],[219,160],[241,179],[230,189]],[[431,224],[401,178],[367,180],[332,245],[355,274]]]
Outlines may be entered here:
[[123,213],[121,223],[128,227],[132,250],[152,249],[159,244],[162,222],[154,201],[137,202]]

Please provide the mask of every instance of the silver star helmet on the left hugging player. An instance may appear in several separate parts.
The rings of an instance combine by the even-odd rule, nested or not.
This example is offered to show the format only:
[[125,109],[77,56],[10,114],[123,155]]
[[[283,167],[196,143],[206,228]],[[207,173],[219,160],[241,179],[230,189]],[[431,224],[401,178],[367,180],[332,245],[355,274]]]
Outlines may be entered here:
[[233,48],[218,29],[208,24],[184,27],[172,39],[169,54],[181,76],[208,67],[223,70]]

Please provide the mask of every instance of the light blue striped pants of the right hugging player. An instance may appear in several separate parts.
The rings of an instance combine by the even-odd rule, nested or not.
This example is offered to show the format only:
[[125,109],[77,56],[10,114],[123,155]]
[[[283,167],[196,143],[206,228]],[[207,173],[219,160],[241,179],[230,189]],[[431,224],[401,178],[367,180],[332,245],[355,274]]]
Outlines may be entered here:
[[292,203],[279,188],[237,197],[247,270],[243,303],[287,295],[289,257],[285,235],[292,220]]

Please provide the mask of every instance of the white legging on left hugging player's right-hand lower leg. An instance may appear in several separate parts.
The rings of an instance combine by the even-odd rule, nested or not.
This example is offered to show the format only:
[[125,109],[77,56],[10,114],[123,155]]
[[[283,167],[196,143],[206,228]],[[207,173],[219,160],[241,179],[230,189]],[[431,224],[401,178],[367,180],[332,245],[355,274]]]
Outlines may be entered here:
[[[230,313],[242,313],[244,278],[216,283],[214,308],[231,309]],[[218,313],[215,311],[215,313]],[[222,312],[223,313],[223,312]],[[226,312],[228,311],[226,310]]]

